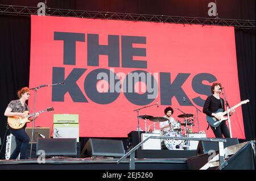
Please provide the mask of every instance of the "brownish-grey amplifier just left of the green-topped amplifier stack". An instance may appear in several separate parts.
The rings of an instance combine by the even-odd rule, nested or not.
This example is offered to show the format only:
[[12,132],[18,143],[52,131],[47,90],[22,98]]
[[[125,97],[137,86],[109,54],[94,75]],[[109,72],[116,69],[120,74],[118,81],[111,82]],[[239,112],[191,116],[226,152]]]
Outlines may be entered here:
[[26,128],[26,133],[28,137],[30,137],[30,144],[31,142],[35,144],[38,138],[50,138],[51,136],[51,128],[49,127],[36,127],[34,128],[34,134],[32,138],[32,128]]

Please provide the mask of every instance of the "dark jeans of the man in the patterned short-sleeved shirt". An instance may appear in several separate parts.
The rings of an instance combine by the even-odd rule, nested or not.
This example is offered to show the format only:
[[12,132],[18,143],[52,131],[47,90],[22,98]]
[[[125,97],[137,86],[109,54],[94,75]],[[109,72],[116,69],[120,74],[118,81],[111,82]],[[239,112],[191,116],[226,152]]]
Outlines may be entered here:
[[16,141],[16,148],[11,154],[10,159],[16,159],[19,155],[19,159],[27,159],[26,152],[27,152],[27,146],[28,142],[30,142],[30,137],[27,136],[27,133],[25,132],[25,128],[22,129],[11,129],[11,134],[15,136]]

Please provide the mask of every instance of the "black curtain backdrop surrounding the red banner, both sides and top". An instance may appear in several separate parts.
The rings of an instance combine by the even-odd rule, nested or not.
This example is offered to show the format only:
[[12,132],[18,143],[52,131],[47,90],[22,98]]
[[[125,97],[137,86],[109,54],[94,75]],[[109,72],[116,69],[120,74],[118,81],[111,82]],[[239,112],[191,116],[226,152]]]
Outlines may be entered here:
[[[40,0],[0,0],[0,4],[36,6]],[[148,0],[51,0],[48,7],[60,9],[79,9],[109,12],[128,12],[136,14],[164,14],[177,16],[207,15],[210,0],[148,1]],[[220,18],[254,19],[255,0],[217,1]],[[242,106],[246,140],[255,138],[255,30],[235,30],[238,78],[241,100],[250,99]],[[30,71],[30,17],[0,15],[0,137],[3,148],[0,159],[4,157],[6,117],[3,113],[10,100],[18,99],[16,91],[28,86]],[[235,123],[233,123],[235,124]]]

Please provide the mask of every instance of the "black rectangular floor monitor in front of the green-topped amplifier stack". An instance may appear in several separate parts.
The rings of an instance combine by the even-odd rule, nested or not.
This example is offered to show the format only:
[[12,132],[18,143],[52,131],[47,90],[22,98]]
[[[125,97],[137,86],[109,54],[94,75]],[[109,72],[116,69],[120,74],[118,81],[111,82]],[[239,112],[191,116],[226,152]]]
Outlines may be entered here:
[[53,156],[60,157],[77,157],[76,138],[50,138],[38,139],[36,144],[36,156],[46,153],[46,158]]

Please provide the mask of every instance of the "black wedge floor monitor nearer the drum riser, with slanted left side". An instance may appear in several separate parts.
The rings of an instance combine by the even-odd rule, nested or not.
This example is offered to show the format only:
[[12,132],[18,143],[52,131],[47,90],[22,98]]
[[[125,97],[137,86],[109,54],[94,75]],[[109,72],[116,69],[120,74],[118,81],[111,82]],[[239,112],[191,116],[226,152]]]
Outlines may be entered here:
[[104,140],[90,138],[82,149],[81,157],[122,157],[125,155],[121,140]]

